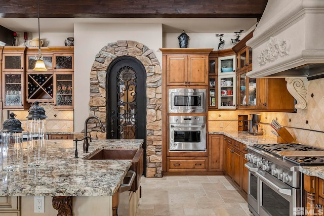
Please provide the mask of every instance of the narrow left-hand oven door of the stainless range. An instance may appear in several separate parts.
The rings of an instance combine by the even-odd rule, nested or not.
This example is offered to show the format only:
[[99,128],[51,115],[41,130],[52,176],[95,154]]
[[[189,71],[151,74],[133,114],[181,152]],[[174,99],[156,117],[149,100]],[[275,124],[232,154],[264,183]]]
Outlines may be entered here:
[[259,214],[259,177],[256,175],[258,167],[253,163],[246,163],[245,167],[249,169],[248,185],[248,205],[254,215]]

